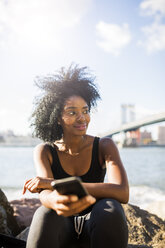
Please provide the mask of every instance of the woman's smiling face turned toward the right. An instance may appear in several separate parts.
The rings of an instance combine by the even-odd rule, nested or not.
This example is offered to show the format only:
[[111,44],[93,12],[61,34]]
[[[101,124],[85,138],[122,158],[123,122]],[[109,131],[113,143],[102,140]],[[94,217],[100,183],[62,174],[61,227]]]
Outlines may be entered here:
[[89,107],[80,96],[69,97],[60,118],[63,133],[84,135],[90,122]]

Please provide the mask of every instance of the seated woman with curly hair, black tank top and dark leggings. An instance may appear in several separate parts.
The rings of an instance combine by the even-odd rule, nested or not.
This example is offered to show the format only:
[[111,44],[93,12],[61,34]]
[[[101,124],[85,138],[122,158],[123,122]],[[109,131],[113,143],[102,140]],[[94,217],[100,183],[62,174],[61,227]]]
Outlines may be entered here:
[[[118,150],[110,138],[86,134],[90,111],[100,98],[87,68],[62,69],[38,83],[44,94],[32,115],[35,135],[45,143],[34,151],[37,177],[23,189],[39,193],[28,248],[127,247],[127,224],[120,203],[129,186]],[[105,172],[108,183],[103,183]],[[89,195],[60,195],[51,182],[79,176]]]

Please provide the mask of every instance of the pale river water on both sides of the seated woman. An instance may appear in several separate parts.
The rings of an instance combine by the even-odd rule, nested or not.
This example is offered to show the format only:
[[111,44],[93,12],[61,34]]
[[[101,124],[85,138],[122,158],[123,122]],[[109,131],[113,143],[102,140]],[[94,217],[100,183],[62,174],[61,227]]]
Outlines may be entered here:
[[[165,202],[165,147],[122,148],[119,152],[129,179],[129,202],[142,208]],[[0,188],[8,200],[36,197],[21,194],[24,181],[33,176],[33,147],[0,147]]]

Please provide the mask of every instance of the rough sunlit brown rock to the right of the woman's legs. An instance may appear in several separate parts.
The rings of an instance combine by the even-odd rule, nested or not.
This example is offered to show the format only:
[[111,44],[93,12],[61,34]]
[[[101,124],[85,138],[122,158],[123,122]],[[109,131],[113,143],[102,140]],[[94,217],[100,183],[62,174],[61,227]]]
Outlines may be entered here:
[[165,248],[165,221],[131,204],[123,205],[123,208],[129,230],[128,243],[137,245],[129,248]]

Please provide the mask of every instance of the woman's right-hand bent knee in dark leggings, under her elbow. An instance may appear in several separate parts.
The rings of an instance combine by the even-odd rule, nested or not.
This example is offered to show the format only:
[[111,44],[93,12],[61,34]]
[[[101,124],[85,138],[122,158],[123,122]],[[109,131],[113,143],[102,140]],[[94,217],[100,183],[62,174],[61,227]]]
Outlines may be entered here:
[[92,242],[100,244],[99,247],[108,247],[108,244],[112,247],[127,247],[127,223],[118,201],[109,198],[98,201],[91,212],[90,228]]

